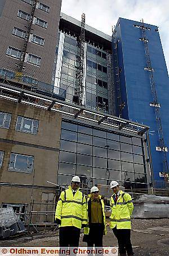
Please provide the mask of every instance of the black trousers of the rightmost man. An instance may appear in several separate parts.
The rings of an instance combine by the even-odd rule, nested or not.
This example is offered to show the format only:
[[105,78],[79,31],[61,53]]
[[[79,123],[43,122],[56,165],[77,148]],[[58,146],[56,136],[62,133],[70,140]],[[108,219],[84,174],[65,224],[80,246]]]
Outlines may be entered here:
[[127,251],[127,255],[133,255],[134,252],[130,240],[131,229],[117,229],[115,226],[113,233],[118,241],[119,254],[126,254]]

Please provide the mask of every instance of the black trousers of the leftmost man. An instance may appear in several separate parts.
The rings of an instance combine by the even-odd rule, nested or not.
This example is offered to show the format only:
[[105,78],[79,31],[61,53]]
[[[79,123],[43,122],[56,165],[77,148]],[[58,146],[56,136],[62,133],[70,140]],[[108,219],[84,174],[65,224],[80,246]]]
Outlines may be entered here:
[[59,246],[60,247],[78,247],[81,229],[76,227],[59,228]]

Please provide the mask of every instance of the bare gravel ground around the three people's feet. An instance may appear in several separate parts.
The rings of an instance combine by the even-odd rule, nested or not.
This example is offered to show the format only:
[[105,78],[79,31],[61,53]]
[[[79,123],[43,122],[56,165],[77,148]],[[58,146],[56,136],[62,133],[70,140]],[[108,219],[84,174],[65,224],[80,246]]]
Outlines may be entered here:
[[[80,246],[86,246],[82,237],[83,234]],[[169,255],[169,219],[133,219],[131,241],[135,256]],[[28,235],[15,240],[1,240],[0,246],[59,246],[58,233],[46,232],[43,235]],[[117,246],[116,238],[109,228],[108,235],[104,236],[104,246]]]

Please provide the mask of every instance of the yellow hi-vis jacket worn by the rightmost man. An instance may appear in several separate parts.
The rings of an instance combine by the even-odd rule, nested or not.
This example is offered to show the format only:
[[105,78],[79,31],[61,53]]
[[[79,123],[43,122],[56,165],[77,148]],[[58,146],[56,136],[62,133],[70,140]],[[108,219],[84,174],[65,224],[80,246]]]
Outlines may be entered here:
[[119,191],[120,194],[116,204],[113,199],[115,194],[110,197],[110,207],[112,209],[110,228],[114,228],[117,225],[117,229],[131,229],[131,214],[134,205],[130,194],[124,193],[122,190]]

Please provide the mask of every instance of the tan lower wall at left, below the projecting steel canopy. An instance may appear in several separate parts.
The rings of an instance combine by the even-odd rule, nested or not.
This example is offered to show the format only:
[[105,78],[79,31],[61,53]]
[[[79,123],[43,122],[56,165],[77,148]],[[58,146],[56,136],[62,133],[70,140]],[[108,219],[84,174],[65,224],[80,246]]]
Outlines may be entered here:
[[[4,99],[0,111],[12,114],[10,128],[0,128],[0,150],[5,152],[0,169],[0,205],[30,203],[33,198],[35,202],[45,201],[44,193],[55,194],[55,186],[46,181],[57,180],[61,115]],[[37,135],[15,131],[17,115],[39,120]],[[33,172],[9,171],[11,153],[33,155]]]

